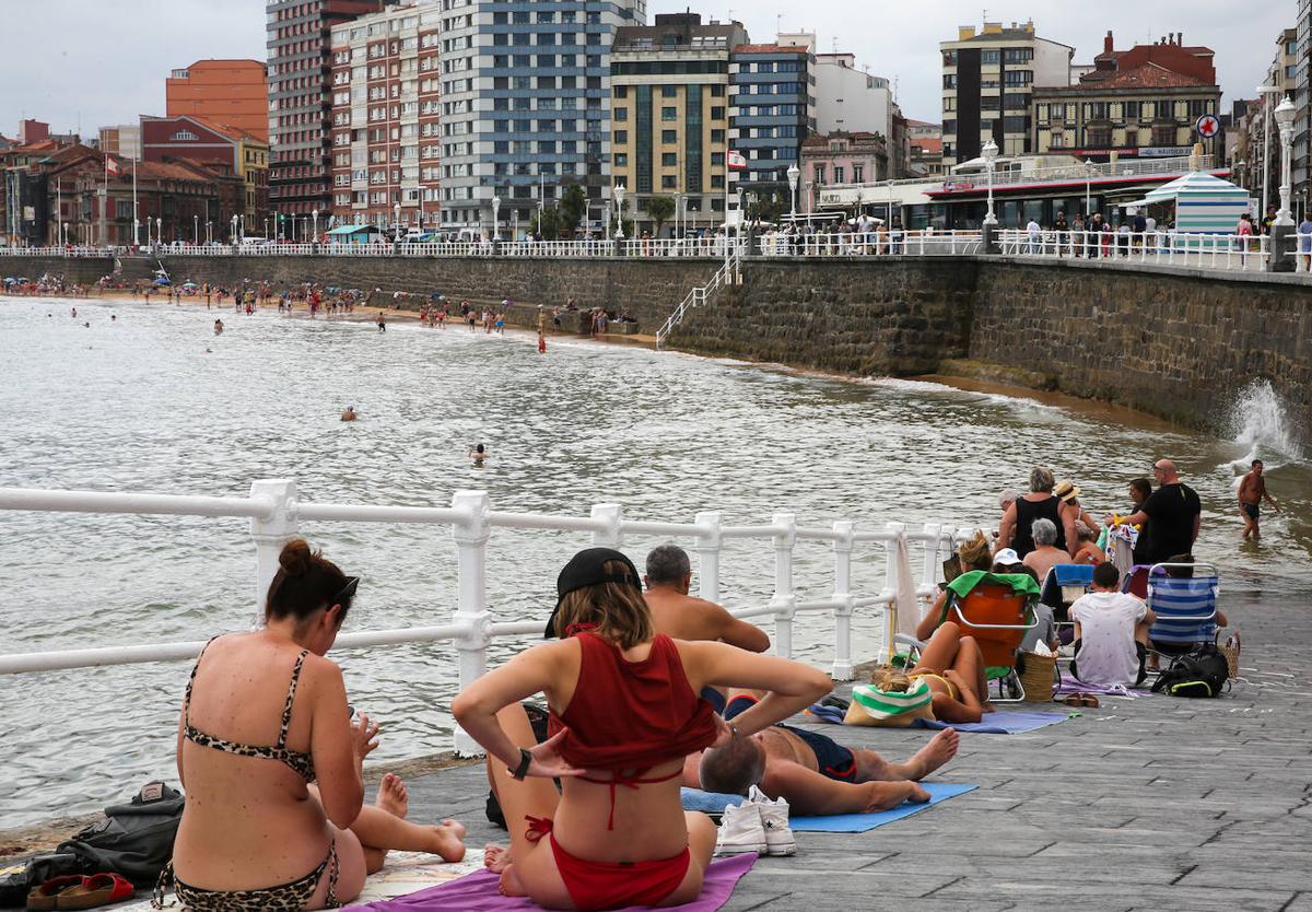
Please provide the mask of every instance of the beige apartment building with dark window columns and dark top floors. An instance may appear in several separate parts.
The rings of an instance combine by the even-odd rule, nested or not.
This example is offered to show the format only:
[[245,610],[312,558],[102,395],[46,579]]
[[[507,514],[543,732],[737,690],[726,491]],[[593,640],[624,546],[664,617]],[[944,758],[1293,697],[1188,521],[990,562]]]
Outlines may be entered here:
[[[724,220],[729,60],[748,43],[741,22],[698,13],[656,16],[615,33],[610,56],[611,178],[627,189],[626,219],[651,230],[653,197],[676,199],[703,227]],[[761,159],[764,161],[765,159]]]

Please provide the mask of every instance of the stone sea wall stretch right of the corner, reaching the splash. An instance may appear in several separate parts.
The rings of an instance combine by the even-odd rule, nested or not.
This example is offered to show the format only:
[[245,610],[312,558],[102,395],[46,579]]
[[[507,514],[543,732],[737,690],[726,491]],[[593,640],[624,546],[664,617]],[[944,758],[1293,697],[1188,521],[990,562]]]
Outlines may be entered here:
[[1256,379],[1312,429],[1312,285],[1256,273],[981,262],[970,357],[1048,386],[1216,428]]

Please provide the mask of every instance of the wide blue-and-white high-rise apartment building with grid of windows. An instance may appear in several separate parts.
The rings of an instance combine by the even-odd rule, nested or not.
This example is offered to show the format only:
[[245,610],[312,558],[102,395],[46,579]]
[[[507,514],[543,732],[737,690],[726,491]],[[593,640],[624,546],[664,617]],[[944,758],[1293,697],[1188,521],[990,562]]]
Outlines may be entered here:
[[441,0],[443,230],[527,227],[581,186],[601,215],[610,176],[610,52],[646,0]]

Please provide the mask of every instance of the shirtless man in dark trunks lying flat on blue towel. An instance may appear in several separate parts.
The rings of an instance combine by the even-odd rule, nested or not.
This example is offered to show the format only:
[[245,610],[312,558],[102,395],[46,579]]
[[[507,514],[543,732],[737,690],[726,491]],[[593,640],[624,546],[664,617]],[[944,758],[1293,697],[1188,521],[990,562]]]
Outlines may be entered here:
[[[752,690],[731,693],[727,720],[760,697]],[[820,732],[777,724],[690,755],[684,761],[684,785],[740,795],[757,785],[802,816],[887,811],[907,800],[928,802],[929,793],[916,782],[947,764],[959,741],[956,731],[945,728],[907,762],[891,764],[874,751],[846,748]]]

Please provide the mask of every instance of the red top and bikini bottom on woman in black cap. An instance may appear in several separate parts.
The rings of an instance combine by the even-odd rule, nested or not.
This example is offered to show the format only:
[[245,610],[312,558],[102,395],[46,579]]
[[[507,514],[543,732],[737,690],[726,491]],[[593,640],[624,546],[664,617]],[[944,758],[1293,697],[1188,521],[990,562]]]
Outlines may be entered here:
[[[564,714],[551,714],[547,731],[569,728],[560,751],[572,766],[611,770],[614,778],[592,779],[610,786],[610,820],[615,823],[615,789],[636,789],[665,782],[682,770],[659,778],[643,773],[668,760],[685,757],[715,740],[715,714],[693,693],[674,642],[652,640],[642,661],[627,661],[606,639],[576,634],[583,648],[579,684]],[[529,818],[529,839],[551,832],[551,821]],[[580,911],[655,905],[684,882],[690,856],[685,846],[673,858],[636,862],[600,862],[576,858],[551,836],[551,852],[569,898]]]

